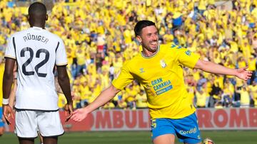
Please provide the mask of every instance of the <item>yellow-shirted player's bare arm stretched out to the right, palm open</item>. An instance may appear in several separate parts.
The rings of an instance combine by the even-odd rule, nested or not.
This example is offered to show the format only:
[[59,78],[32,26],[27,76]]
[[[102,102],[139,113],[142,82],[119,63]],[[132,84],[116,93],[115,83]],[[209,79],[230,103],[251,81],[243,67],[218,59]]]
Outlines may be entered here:
[[251,71],[246,70],[248,67],[243,67],[241,69],[231,69],[228,67],[223,67],[222,65],[218,65],[214,62],[209,62],[205,60],[198,60],[194,68],[203,70],[204,72],[210,72],[213,74],[232,75],[243,80],[250,79],[252,74]]

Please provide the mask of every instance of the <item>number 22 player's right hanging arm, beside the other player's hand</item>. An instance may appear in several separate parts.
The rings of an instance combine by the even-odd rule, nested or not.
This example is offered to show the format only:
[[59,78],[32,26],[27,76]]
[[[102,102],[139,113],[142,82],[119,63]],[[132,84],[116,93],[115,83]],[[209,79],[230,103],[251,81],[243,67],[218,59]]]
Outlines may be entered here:
[[69,116],[66,118],[66,121],[69,121],[69,118],[71,118],[71,114],[73,113],[73,100],[71,97],[71,86],[69,82],[69,76],[67,74],[66,66],[58,66],[57,67],[58,71],[58,82],[60,84],[62,92],[64,92],[64,96],[66,97],[67,100],[67,105],[68,105],[68,112]]

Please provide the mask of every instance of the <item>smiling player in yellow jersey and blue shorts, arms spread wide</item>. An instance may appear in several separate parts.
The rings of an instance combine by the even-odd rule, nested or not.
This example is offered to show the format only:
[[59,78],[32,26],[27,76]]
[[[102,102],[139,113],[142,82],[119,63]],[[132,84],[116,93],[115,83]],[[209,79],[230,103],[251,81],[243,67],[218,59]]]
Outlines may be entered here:
[[106,104],[133,79],[137,79],[147,94],[153,143],[173,144],[177,135],[183,143],[201,144],[196,109],[183,81],[183,66],[233,75],[243,80],[249,79],[251,72],[246,71],[246,67],[236,70],[199,60],[200,56],[175,44],[158,45],[158,30],[152,21],[138,21],[134,32],[142,45],[142,52],[124,64],[109,88],[89,106],[74,111],[71,118],[82,121],[91,111]]

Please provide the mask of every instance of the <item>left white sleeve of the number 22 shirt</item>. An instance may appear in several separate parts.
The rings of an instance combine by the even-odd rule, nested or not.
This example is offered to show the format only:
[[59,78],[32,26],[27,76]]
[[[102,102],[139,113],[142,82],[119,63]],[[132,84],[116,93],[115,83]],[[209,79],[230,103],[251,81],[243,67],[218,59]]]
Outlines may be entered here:
[[16,50],[15,38],[10,37],[10,38],[8,38],[8,41],[7,41],[7,48],[6,48],[6,52],[5,52],[4,57],[9,57],[9,58],[12,58],[12,59],[16,59],[15,50]]

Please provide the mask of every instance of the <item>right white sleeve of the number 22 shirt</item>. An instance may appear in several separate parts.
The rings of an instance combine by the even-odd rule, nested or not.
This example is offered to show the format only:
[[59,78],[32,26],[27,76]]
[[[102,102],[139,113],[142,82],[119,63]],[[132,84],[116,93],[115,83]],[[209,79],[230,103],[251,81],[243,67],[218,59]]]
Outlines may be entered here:
[[56,65],[64,66],[67,65],[67,55],[64,47],[64,42],[60,40],[56,46]]

